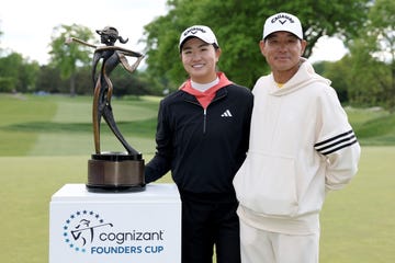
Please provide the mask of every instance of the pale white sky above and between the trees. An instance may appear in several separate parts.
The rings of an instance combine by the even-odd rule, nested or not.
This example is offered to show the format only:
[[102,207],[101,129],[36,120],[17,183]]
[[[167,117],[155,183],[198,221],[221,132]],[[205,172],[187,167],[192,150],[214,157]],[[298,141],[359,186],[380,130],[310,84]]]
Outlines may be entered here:
[[[48,45],[54,27],[78,24],[94,33],[95,30],[112,25],[122,37],[129,39],[125,44],[126,48],[143,52],[144,43],[139,43],[139,39],[143,37],[144,25],[168,12],[166,1],[0,0],[0,46],[45,65],[49,59]],[[346,52],[341,41],[320,38],[313,48],[309,60],[334,61],[340,59]]]

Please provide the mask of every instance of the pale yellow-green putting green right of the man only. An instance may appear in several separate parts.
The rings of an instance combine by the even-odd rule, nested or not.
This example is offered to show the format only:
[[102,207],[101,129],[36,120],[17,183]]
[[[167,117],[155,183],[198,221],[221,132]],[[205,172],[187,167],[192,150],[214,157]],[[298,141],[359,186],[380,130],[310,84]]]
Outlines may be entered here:
[[321,263],[395,262],[395,147],[362,147],[359,172],[321,213]]

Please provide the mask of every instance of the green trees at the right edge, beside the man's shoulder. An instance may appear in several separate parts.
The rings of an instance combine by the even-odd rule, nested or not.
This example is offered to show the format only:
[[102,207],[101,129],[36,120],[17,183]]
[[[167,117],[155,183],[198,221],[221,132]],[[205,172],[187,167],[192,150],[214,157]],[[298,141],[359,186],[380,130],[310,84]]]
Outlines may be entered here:
[[342,102],[395,111],[395,2],[375,1],[369,20],[349,42],[350,55],[315,65],[332,81]]

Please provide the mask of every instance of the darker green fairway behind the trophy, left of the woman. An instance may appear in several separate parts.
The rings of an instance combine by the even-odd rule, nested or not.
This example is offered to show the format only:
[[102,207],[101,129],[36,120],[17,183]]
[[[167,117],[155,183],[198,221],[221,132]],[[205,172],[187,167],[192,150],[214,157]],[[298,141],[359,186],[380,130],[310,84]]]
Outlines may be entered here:
[[[143,153],[155,150],[158,100],[112,100],[125,139]],[[0,156],[90,155],[93,149],[91,98],[0,95]],[[102,150],[124,151],[104,119]]]

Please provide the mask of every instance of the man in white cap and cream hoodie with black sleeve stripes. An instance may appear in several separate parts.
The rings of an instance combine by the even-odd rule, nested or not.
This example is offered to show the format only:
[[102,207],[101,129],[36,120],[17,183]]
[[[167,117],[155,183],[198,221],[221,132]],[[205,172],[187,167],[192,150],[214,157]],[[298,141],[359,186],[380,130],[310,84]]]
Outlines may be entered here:
[[325,195],[357,173],[360,146],[330,81],[301,56],[300,20],[270,16],[260,49],[271,68],[253,90],[247,158],[234,179],[242,263],[316,263]]

